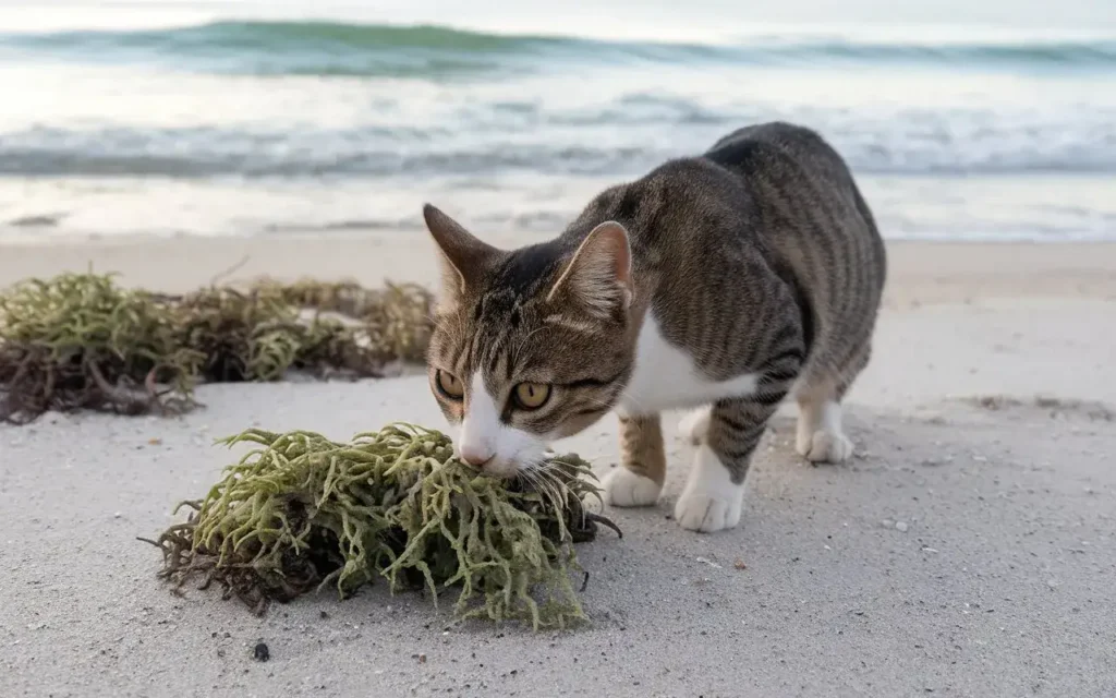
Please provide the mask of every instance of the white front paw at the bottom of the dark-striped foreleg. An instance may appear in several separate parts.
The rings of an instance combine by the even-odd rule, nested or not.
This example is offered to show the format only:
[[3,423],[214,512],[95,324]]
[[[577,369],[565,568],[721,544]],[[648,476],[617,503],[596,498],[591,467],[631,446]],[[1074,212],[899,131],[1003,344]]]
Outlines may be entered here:
[[686,487],[674,505],[674,519],[689,530],[713,533],[737,526],[743,506],[744,485],[734,484],[716,455],[702,446]]

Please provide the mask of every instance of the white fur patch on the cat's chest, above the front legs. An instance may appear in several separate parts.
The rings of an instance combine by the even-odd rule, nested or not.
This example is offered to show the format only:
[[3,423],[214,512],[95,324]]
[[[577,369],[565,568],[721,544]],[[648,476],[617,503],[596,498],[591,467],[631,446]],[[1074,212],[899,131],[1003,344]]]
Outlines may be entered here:
[[753,373],[728,381],[703,376],[690,354],[668,343],[658,321],[647,313],[636,340],[632,380],[616,410],[625,414],[650,414],[740,398],[756,392],[757,377]]

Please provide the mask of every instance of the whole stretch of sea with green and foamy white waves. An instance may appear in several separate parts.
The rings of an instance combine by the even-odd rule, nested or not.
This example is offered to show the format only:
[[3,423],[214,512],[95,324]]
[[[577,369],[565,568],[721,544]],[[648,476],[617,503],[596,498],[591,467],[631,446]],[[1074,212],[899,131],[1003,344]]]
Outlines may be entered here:
[[424,201],[554,233],[776,118],[887,237],[1116,238],[1116,8],[452,4],[0,4],[0,239],[407,230]]

